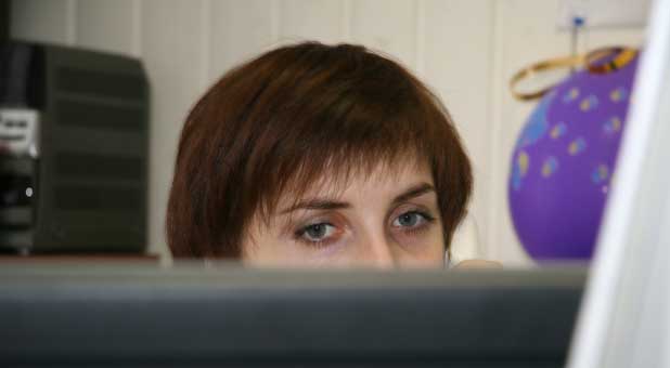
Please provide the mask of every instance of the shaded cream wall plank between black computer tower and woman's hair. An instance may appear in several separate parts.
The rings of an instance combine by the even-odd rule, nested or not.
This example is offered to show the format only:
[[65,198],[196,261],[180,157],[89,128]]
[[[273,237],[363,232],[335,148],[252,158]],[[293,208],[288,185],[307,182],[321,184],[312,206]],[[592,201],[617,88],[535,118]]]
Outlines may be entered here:
[[177,142],[203,93],[203,0],[142,1],[142,58],[151,82],[150,251],[167,254],[165,212]]

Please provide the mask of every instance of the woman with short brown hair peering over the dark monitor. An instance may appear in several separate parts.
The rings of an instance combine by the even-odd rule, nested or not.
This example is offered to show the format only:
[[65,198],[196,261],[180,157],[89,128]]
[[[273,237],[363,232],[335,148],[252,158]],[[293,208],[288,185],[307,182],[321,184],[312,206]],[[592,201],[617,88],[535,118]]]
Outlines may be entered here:
[[288,45],[189,115],[168,242],[252,265],[443,265],[472,185],[449,114],[407,69],[360,45]]

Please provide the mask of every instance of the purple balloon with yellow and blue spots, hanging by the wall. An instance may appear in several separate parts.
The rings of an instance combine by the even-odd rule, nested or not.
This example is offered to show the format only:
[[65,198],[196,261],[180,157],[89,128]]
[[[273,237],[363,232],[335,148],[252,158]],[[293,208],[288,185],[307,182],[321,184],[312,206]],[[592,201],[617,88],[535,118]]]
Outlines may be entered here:
[[514,148],[508,202],[536,260],[589,260],[603,216],[637,58],[578,71],[540,101]]

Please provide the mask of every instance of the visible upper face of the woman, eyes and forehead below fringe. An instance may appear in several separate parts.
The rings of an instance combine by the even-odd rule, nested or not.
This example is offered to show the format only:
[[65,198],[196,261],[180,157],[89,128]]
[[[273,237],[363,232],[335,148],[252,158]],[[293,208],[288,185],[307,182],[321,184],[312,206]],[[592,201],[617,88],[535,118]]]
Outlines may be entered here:
[[[326,181],[327,182],[327,181]],[[252,221],[242,259],[270,266],[442,266],[444,240],[427,167],[378,166],[348,186],[314,185]]]

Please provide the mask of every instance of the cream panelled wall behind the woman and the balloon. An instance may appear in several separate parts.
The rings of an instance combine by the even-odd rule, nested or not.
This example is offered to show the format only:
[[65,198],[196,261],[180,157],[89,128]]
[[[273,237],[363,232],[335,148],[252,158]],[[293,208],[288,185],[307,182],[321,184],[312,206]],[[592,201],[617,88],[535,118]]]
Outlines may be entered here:
[[[451,110],[475,168],[474,213],[487,255],[528,264],[506,202],[508,160],[532,109],[508,78],[569,52],[558,0],[20,0],[15,38],[141,57],[152,86],[150,250],[163,222],[177,140],[190,106],[222,73],[282,42],[357,42],[414,70]],[[588,31],[580,50],[642,41],[641,28]]]

